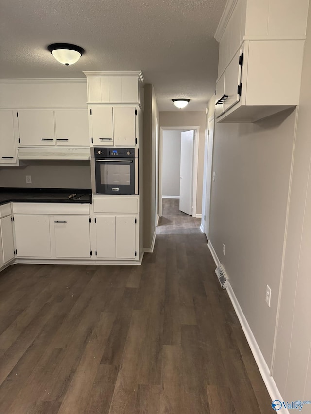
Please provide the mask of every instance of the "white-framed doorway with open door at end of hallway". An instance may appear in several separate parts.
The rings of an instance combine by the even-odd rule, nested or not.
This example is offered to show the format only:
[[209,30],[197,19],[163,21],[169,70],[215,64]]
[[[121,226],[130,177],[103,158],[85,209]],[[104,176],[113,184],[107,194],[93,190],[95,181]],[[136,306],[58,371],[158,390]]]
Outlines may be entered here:
[[[162,198],[180,200],[180,196],[182,197],[181,211],[196,217],[198,137],[198,126],[160,127],[158,182],[160,217],[162,216]],[[168,160],[169,163],[167,163]],[[184,172],[181,174],[180,171]],[[184,180],[180,177],[184,177]]]

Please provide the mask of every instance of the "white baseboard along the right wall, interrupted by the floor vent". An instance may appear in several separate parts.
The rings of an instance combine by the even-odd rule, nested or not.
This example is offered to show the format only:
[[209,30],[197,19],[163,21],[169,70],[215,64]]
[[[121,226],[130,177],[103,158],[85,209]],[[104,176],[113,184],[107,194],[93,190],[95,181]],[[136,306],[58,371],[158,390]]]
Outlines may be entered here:
[[[211,255],[213,256],[213,259],[215,261],[216,266],[218,266],[220,264],[220,260],[213,248],[213,245],[211,244],[210,241],[208,241],[208,248],[211,252]],[[241,324],[242,330],[244,332],[244,335],[246,337],[246,340],[248,342],[248,345],[252,351],[252,354],[254,356],[255,362],[258,366],[259,372],[261,374],[261,377],[263,379],[263,382],[265,383],[265,386],[267,388],[267,391],[271,397],[271,401],[274,400],[280,400],[283,401],[283,398],[281,397],[281,394],[277,388],[276,382],[274,381],[273,377],[270,376],[270,370],[269,367],[265,361],[265,359],[263,358],[263,355],[261,353],[261,350],[259,348],[259,345],[255,339],[255,336],[247,322],[247,319],[242,311],[242,308],[238,302],[237,297],[234,294],[234,291],[232,289],[232,286],[230,284],[230,281],[228,280],[228,285],[227,285],[227,292],[228,292],[228,296],[231,300],[232,306],[235,310],[235,313],[238,316],[239,322]],[[288,409],[282,408],[282,413],[284,414],[289,414]]]

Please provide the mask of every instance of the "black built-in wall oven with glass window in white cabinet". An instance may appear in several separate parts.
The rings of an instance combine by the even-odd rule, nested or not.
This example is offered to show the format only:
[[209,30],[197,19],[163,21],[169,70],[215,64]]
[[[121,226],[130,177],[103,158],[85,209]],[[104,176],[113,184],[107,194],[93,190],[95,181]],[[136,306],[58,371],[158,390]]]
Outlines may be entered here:
[[92,191],[139,194],[138,148],[91,147]]

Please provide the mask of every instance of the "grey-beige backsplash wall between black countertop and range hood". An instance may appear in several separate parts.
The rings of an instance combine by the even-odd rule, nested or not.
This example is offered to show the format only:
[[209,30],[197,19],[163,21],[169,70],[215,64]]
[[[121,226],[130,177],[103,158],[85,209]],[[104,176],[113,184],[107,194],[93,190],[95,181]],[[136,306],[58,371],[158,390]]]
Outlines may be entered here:
[[[31,184],[26,184],[30,175]],[[89,161],[32,161],[29,165],[0,167],[0,187],[91,188]]]

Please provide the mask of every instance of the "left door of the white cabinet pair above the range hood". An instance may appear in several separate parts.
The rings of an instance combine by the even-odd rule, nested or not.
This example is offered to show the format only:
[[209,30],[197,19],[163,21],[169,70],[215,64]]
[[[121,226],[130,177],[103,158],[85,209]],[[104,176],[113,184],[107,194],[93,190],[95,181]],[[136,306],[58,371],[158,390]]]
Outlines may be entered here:
[[29,109],[18,111],[20,145],[54,145],[54,111]]

